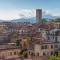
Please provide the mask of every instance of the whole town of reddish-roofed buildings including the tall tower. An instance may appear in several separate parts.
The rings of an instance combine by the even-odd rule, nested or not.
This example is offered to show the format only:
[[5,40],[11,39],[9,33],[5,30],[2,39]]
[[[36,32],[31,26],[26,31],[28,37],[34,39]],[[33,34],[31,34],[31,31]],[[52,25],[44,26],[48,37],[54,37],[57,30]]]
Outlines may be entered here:
[[44,21],[36,9],[36,23],[0,22],[0,60],[49,60],[57,53],[60,22]]

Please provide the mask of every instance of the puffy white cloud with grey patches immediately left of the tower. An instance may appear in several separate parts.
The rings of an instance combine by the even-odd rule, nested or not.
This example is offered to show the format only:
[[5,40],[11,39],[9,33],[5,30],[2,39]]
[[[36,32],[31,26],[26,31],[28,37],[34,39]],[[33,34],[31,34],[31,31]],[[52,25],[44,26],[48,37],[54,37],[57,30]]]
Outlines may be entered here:
[[19,15],[25,18],[35,17],[35,10],[24,9],[19,11]]

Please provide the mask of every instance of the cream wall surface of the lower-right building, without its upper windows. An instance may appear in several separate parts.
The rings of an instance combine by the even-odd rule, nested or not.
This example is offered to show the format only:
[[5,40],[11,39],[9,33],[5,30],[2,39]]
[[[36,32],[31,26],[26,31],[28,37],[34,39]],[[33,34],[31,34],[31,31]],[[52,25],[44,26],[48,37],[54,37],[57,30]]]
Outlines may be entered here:
[[[41,46],[47,45],[47,49],[41,49]],[[53,48],[51,48],[51,45]],[[57,45],[58,47],[55,47]],[[39,53],[39,56],[43,56],[43,53],[45,55],[51,55],[52,53],[54,54],[55,51],[59,50],[60,48],[60,43],[49,43],[49,44],[36,44],[34,47],[35,55]]]

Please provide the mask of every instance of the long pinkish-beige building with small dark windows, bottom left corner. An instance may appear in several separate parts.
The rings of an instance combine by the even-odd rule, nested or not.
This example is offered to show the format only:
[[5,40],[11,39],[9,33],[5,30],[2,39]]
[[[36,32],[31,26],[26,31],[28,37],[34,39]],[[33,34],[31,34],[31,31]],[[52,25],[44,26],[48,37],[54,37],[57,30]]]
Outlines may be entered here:
[[18,58],[19,53],[19,48],[0,49],[0,59]]

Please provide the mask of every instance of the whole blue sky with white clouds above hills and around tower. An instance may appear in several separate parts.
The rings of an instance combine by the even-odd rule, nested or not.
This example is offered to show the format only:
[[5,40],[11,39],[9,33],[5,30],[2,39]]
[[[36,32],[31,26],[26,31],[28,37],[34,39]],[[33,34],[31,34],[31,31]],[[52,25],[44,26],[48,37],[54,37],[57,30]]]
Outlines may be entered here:
[[35,17],[36,9],[42,9],[45,15],[60,16],[60,0],[0,0],[0,19]]

